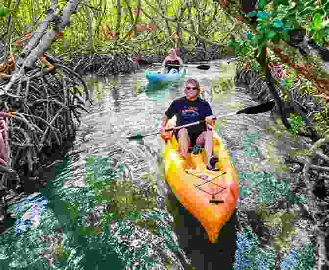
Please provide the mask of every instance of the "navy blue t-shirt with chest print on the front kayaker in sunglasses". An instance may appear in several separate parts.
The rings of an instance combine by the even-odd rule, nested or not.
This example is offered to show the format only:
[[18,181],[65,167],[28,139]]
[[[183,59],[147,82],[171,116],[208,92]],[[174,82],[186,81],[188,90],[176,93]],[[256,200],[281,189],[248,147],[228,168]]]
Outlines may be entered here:
[[[169,119],[176,115],[176,126],[182,126],[204,120],[205,117],[212,115],[212,111],[209,103],[200,97],[197,97],[195,101],[188,101],[187,97],[181,97],[174,100],[164,114]],[[199,135],[205,130],[206,124],[199,124],[188,127],[188,134]]]

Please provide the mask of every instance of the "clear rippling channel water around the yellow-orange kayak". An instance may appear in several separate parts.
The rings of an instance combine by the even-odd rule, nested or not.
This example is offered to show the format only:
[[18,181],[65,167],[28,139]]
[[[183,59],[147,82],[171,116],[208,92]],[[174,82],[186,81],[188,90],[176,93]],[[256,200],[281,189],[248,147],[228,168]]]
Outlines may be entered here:
[[[188,77],[204,86],[203,98],[211,104],[214,115],[258,104],[243,89],[211,91],[211,86],[215,90],[220,83],[223,67],[220,61],[212,61],[210,66],[208,71],[188,67]],[[87,83],[95,100],[91,113],[83,114],[70,155],[45,173],[47,188],[40,193],[48,205],[40,213],[40,225],[22,235],[16,235],[13,227],[3,236],[3,269],[103,269],[109,264],[111,269],[134,269],[133,265],[135,269],[188,269],[191,263],[196,269],[212,270],[218,265],[224,267],[225,260],[229,264],[234,256],[236,270],[279,269],[285,257],[282,270],[288,265],[307,269],[302,263],[311,261],[312,228],[304,218],[291,226],[295,230],[288,233],[285,249],[279,245],[282,250],[275,250],[278,235],[287,228],[283,228],[283,219],[275,223],[278,218],[273,221],[273,215],[280,212],[277,203],[286,195],[292,178],[280,158],[291,148],[305,145],[287,132],[280,132],[271,113],[217,121],[217,132],[231,150],[240,174],[240,203],[218,243],[210,244],[203,228],[184,208],[178,208],[181,218],[175,226],[165,208],[165,200],[172,205],[178,202],[164,183],[160,136],[145,137],[143,142],[125,139],[157,132],[165,110],[183,95],[183,83],[149,89],[144,70],[118,80],[88,78]],[[120,189],[115,184],[118,180],[129,180],[133,189],[142,189],[141,197],[132,194],[129,186]],[[156,201],[147,199],[152,198],[152,185],[157,188]],[[116,202],[109,203],[114,196]],[[298,200],[303,203],[302,196]],[[104,202],[109,203],[108,211],[104,210]],[[140,213],[135,205],[149,207]],[[257,229],[260,208],[267,218],[267,233]],[[298,207],[293,211],[299,213]],[[148,225],[138,223],[141,220],[147,220]],[[42,239],[50,236],[56,240],[49,248]],[[47,260],[40,259],[40,254]],[[293,262],[288,263],[289,258]]]

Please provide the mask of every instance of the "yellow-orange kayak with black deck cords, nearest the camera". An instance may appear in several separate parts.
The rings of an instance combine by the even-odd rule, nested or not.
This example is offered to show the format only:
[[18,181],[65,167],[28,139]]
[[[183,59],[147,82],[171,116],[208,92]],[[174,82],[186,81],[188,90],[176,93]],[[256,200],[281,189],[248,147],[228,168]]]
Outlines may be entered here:
[[[168,121],[166,129],[172,128]],[[211,243],[217,241],[221,228],[231,218],[239,196],[239,177],[219,135],[213,132],[213,154],[218,157],[217,171],[205,165],[204,151],[191,154],[195,170],[184,171],[173,136],[164,146],[164,176],[179,202],[201,223]]]

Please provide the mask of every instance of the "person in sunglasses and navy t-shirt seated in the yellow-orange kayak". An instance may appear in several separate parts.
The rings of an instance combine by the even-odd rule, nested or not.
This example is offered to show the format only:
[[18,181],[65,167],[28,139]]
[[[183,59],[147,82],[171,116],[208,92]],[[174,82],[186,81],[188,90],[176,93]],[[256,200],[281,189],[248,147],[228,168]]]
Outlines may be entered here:
[[172,134],[165,132],[165,126],[169,119],[174,115],[177,118],[176,126],[182,126],[206,120],[206,123],[182,128],[175,131],[174,134],[178,139],[180,156],[185,160],[184,169],[195,169],[196,165],[192,162],[188,148],[195,145],[204,146],[207,157],[207,169],[211,170],[211,153],[212,153],[212,132],[209,126],[214,124],[210,104],[199,97],[200,85],[195,79],[188,79],[184,93],[186,96],[174,100],[168,110],[164,112],[160,133],[164,141],[171,140]]

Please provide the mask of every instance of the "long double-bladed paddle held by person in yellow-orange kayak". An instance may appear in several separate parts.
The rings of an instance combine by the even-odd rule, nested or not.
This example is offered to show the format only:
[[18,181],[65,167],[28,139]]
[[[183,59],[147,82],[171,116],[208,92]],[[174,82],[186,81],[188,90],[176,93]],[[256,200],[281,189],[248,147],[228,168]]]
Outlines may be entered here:
[[[221,117],[233,116],[233,115],[237,115],[237,114],[258,114],[258,113],[268,112],[273,109],[274,105],[275,105],[274,101],[269,101],[264,104],[248,107],[246,109],[242,109],[242,110],[232,112],[232,113],[229,113],[226,115],[221,115],[221,116],[215,117],[214,119],[221,118]],[[197,122],[190,123],[187,125],[183,125],[183,126],[179,126],[179,127],[175,127],[175,128],[171,128],[171,129],[166,129],[165,131],[168,132],[168,131],[173,131],[173,130],[179,130],[182,128],[199,125],[201,123],[204,123],[205,121],[206,120],[201,120],[201,121],[197,121]],[[151,136],[151,135],[158,135],[158,134],[160,134],[160,132],[155,132],[155,133],[151,133],[151,134],[147,134],[147,135],[134,135],[134,136],[127,137],[127,139],[128,140],[141,140],[144,137]]]

